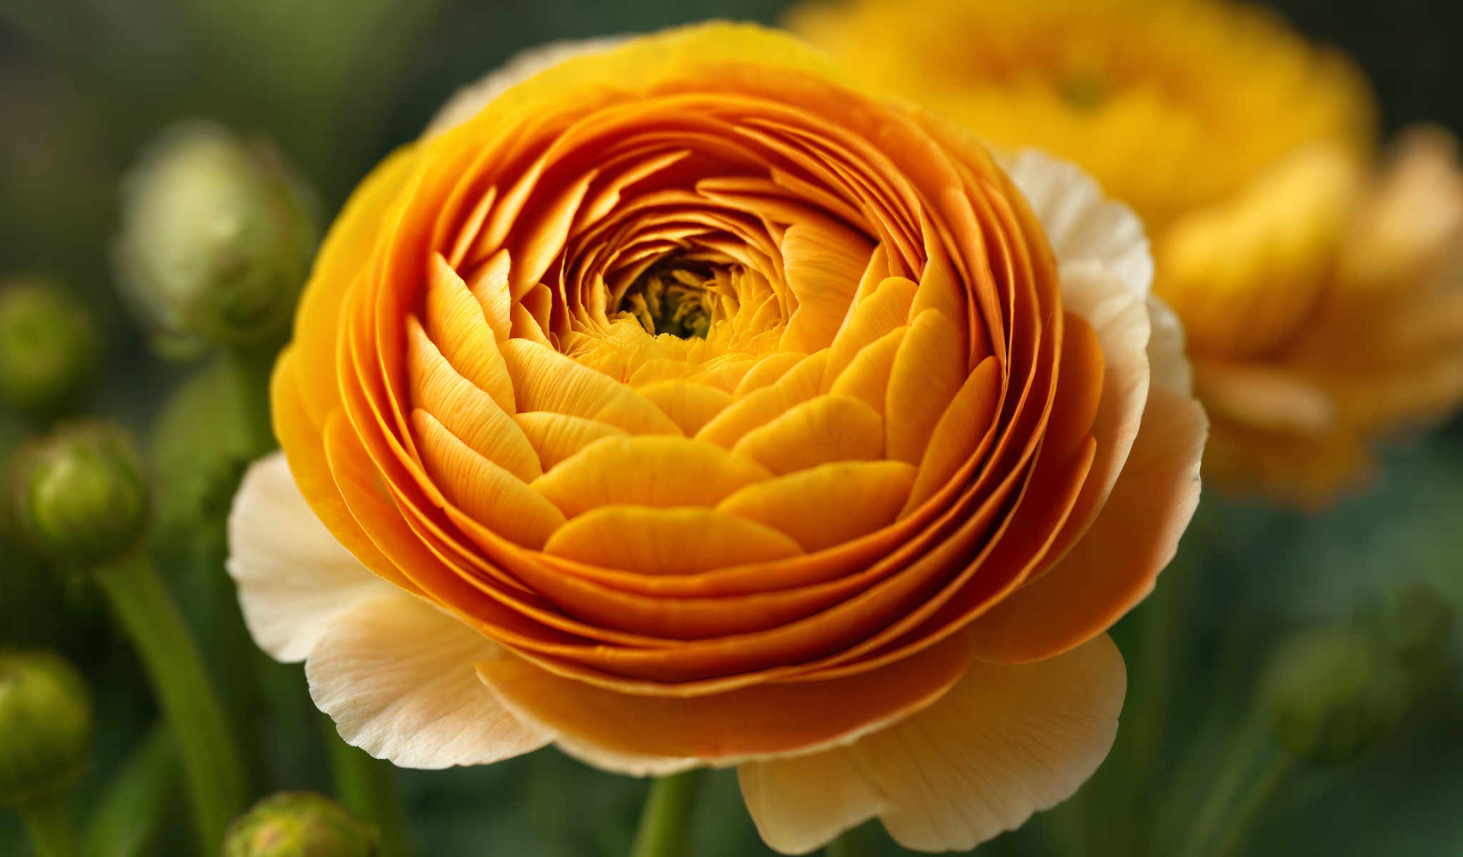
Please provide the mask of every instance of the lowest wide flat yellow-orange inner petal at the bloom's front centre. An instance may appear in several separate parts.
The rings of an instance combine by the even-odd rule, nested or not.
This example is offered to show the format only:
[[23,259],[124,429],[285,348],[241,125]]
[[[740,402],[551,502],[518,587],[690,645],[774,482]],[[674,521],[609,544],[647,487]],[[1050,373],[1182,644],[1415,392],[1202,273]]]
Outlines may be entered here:
[[560,526],[544,553],[642,575],[693,575],[802,548],[771,526],[712,509],[601,506]]

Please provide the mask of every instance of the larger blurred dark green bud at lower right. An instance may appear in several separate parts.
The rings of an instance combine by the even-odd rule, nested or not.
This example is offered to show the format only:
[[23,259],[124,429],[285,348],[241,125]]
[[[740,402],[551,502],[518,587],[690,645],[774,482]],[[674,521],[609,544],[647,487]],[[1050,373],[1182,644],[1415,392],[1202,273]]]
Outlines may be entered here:
[[1312,762],[1347,762],[1385,736],[1407,708],[1403,676],[1366,635],[1350,629],[1292,641],[1271,671],[1270,727]]

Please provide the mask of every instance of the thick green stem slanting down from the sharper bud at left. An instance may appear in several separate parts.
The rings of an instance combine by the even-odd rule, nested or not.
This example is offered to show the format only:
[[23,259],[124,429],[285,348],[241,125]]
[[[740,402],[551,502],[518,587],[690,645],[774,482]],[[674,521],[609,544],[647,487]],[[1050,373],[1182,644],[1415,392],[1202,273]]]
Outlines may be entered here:
[[198,643],[140,551],[99,569],[97,581],[132,636],[177,736],[203,854],[218,854],[224,829],[244,809],[244,768]]

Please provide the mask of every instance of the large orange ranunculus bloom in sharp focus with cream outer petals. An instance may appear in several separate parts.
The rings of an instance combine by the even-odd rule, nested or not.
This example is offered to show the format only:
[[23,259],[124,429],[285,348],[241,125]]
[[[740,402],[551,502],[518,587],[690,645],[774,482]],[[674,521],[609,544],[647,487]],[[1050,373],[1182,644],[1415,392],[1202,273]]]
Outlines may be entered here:
[[1106,755],[1103,630],[1197,502],[1150,276],[1075,168],[791,37],[568,60],[332,228],[230,522],[244,616],[399,765],[736,765],[778,850],[971,847]]

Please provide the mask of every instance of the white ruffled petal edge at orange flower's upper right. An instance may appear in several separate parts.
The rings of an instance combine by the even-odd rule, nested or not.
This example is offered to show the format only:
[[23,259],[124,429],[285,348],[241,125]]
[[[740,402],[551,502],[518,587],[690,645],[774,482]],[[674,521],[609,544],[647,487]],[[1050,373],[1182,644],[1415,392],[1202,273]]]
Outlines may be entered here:
[[1037,149],[998,154],[996,161],[1026,195],[1046,240],[1065,268],[1097,262],[1138,294],[1153,287],[1153,254],[1143,221],[1127,205],[1107,199],[1075,164]]

